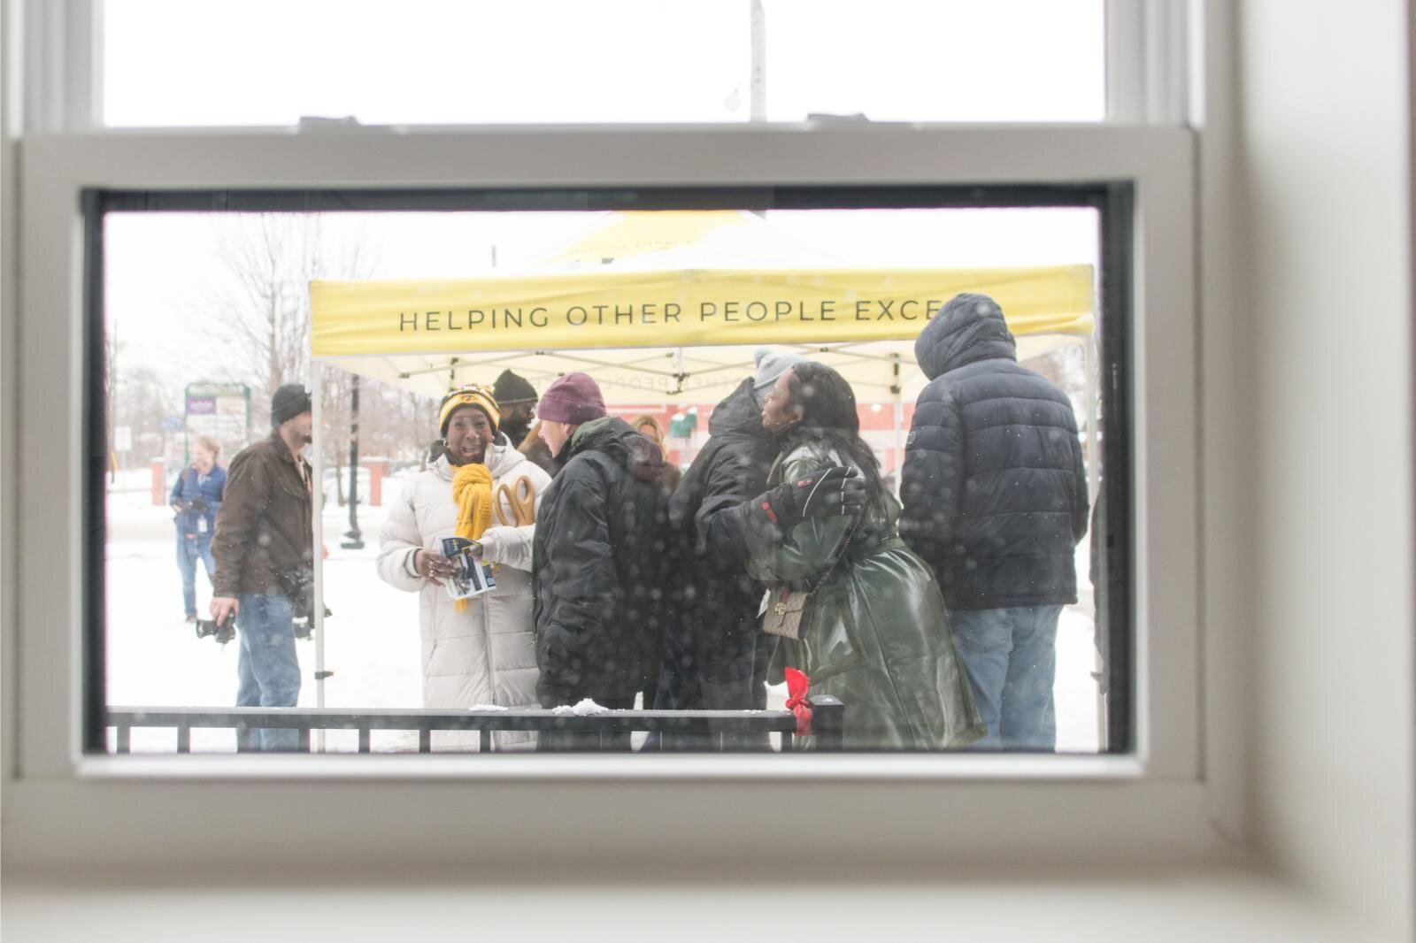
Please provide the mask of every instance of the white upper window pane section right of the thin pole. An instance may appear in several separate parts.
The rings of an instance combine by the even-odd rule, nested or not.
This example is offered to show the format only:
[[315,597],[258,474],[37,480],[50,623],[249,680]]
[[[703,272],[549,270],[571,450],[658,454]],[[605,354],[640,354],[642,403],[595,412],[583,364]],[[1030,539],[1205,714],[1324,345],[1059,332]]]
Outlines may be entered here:
[[766,0],[767,116],[1106,118],[1104,4]]

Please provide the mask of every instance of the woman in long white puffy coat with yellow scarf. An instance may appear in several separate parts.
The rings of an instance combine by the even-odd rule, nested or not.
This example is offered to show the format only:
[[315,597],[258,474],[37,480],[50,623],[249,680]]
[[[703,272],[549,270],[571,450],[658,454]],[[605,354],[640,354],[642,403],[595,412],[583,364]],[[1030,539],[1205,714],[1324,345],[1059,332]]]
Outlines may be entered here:
[[[497,419],[490,389],[470,387],[449,394],[440,409],[445,452],[429,469],[408,480],[379,532],[379,578],[396,589],[421,593],[423,707],[428,708],[539,707],[531,636],[535,524],[517,525],[517,508],[511,501],[518,486],[525,494],[524,479],[532,507],[539,510],[551,476],[497,432]],[[459,535],[459,514],[467,515],[460,510],[453,484],[459,469],[470,464],[483,464],[490,473],[490,527],[476,539],[483,562],[494,565],[497,585],[467,599],[459,610],[442,582],[452,573],[452,561],[439,551],[442,538]],[[463,476],[469,471],[473,469]],[[466,527],[462,532],[466,535]],[[433,746],[469,749],[476,739],[476,733],[440,733],[433,736]],[[494,738],[497,749],[525,749],[532,742],[530,733]]]

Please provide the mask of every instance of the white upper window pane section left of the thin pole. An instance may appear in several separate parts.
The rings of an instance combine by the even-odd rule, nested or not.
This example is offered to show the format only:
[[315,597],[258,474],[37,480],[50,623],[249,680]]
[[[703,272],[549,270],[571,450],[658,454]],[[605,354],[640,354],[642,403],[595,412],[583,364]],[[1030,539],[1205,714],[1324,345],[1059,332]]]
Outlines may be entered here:
[[724,122],[748,17],[708,0],[109,0],[113,126]]

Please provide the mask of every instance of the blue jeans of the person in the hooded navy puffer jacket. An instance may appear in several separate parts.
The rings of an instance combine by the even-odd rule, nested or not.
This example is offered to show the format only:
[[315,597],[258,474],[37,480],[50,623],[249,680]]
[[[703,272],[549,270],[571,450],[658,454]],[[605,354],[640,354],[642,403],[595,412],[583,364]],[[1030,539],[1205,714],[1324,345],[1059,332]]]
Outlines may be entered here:
[[1052,681],[1062,606],[950,609],[959,660],[988,733],[974,749],[1056,749]]

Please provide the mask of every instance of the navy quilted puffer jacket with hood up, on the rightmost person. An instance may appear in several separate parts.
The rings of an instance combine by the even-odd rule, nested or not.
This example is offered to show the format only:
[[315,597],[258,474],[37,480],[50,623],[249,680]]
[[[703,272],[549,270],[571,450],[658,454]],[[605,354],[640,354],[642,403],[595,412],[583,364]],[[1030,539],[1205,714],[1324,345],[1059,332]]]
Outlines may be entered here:
[[1087,496],[1072,402],[1018,365],[984,295],[946,304],[915,357],[930,384],[905,445],[901,537],[950,609],[1076,602]]

